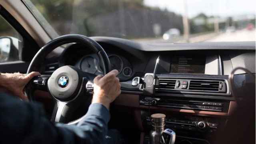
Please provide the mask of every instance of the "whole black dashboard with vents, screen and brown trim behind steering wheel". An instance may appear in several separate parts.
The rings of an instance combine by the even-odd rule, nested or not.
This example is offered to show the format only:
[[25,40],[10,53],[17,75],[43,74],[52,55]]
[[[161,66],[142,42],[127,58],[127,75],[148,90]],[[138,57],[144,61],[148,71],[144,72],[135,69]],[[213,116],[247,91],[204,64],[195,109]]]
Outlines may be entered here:
[[[92,39],[106,51],[112,69],[119,71],[122,94],[114,101],[112,118],[117,121],[112,126],[124,126],[118,125],[120,116],[123,123],[135,120],[137,128],[145,132],[145,140],[150,114],[159,112],[166,114],[166,127],[174,129],[178,136],[190,136],[186,139],[196,138],[201,140],[198,143],[208,144],[209,137],[226,123],[236,105],[230,90],[230,72],[243,67],[255,74],[255,42],[139,44],[120,38]],[[80,44],[60,48],[55,57],[47,59],[44,73],[50,74],[64,65],[102,74],[98,56]],[[133,85],[134,78],[146,80],[147,74],[153,73],[158,83],[151,90],[145,88],[145,81]],[[237,92],[243,93],[252,80],[243,71],[235,74]]]

